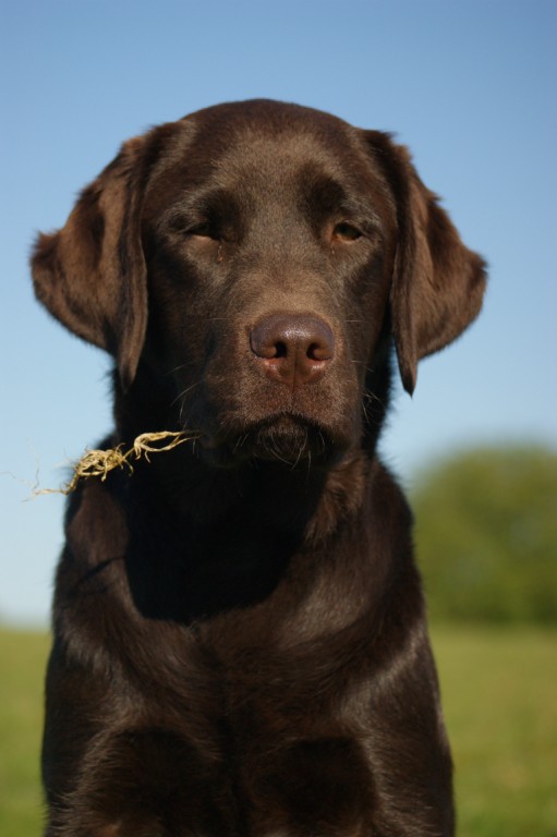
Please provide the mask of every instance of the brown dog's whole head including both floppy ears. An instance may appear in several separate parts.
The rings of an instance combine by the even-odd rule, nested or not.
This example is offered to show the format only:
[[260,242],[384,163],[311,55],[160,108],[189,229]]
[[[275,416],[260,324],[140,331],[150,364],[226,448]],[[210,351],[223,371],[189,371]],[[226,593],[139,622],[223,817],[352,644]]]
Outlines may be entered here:
[[469,325],[485,286],[404,148],[271,101],[126,143],[39,236],[33,275],[51,314],[116,357],[124,389],[140,361],[155,371],[207,456],[289,463],[358,444],[390,335],[412,392],[419,360]]

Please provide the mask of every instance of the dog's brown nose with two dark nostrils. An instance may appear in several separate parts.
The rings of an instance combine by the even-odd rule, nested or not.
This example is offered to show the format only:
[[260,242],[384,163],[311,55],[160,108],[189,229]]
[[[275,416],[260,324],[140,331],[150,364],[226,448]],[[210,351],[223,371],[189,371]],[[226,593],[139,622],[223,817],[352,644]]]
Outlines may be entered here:
[[322,377],[335,353],[330,327],[318,317],[271,315],[250,335],[253,353],[269,378],[296,389]]

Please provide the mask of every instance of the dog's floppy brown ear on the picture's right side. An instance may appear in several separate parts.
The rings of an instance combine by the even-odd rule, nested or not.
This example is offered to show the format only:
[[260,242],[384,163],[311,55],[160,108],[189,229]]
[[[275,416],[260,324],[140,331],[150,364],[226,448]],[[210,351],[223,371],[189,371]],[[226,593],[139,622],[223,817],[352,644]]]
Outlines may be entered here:
[[368,131],[366,136],[397,204],[391,323],[402,384],[412,393],[420,359],[455,340],[479,314],[485,264],[463,245],[408,150],[388,134]]

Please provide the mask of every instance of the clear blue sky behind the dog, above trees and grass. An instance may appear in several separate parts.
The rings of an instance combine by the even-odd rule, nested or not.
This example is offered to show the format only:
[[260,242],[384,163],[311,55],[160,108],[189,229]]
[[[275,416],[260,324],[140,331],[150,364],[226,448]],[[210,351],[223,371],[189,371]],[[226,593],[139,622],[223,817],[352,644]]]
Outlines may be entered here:
[[393,131],[491,264],[481,319],[399,392],[411,484],[453,447],[557,447],[557,2],[4,0],[0,11],[0,619],[46,621],[63,500],[28,502],[109,429],[109,362],[34,302],[27,255],[150,124],[265,96]]

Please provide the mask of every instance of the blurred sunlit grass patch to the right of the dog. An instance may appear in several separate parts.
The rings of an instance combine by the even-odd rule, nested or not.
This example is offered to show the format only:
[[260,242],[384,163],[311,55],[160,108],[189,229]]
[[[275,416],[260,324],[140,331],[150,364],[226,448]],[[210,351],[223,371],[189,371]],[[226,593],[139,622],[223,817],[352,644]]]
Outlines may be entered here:
[[557,837],[557,632],[434,631],[460,837]]

